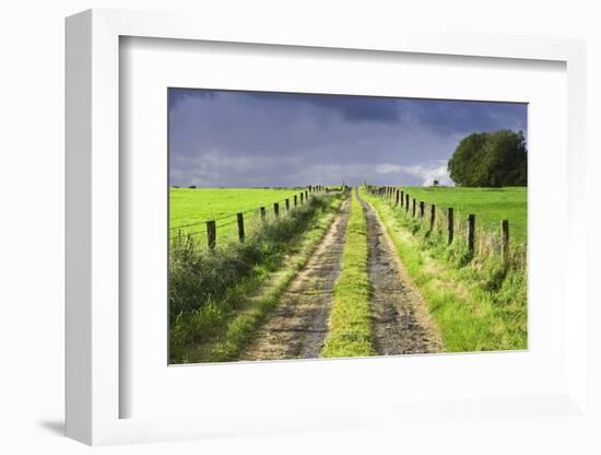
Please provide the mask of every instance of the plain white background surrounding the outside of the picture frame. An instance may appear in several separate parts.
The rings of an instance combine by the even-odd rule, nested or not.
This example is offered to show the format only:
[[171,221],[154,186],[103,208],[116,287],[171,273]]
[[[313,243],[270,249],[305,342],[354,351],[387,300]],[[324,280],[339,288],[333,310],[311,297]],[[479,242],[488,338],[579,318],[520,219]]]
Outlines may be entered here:
[[[353,27],[357,33],[398,27],[585,38],[588,46],[589,182],[600,168],[601,14],[594,1],[184,1],[184,0],[21,0],[0,10],[0,452],[81,453],[90,448],[61,436],[63,421],[63,19],[84,9],[127,8],[196,11],[227,26],[236,14],[248,21],[286,18],[308,28]],[[588,228],[598,225],[599,190],[582,190],[592,207]],[[597,234],[598,235],[598,234]],[[589,299],[599,241],[590,235]],[[598,256],[599,257],[599,256]],[[596,267],[596,270],[593,270]],[[593,310],[589,320],[601,319]],[[600,330],[601,331],[601,330]],[[599,355],[600,336],[590,334]],[[590,364],[601,384],[600,362]],[[599,399],[594,388],[593,399]],[[599,404],[599,401],[597,401]],[[597,406],[597,409],[601,409]],[[178,443],[166,446],[103,448],[108,453],[593,453],[584,438],[591,429],[546,419],[537,422],[544,438],[532,438],[511,421],[494,425],[452,425],[444,434],[403,434],[402,428],[338,434],[307,434]]]

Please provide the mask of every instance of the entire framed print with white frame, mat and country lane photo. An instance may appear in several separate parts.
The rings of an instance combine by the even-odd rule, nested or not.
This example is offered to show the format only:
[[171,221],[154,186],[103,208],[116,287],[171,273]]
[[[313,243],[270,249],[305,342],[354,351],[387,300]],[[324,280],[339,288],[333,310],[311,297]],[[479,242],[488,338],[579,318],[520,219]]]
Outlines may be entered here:
[[563,39],[69,18],[68,435],[581,417],[582,81]]

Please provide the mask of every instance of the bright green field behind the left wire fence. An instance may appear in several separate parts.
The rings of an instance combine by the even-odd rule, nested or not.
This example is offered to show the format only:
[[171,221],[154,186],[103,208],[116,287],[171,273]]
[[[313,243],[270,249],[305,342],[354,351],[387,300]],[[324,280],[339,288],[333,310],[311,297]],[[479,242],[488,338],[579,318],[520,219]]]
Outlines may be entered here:
[[[245,214],[245,221],[250,222],[257,218],[260,207],[272,214],[273,202],[285,198],[291,199],[292,207],[293,196],[303,190],[304,188],[170,188],[169,230],[172,235],[178,231],[202,234],[205,230],[204,221],[217,220],[217,243],[221,238],[235,238],[237,212],[250,210],[251,212]],[[283,212],[283,203],[280,206]]]

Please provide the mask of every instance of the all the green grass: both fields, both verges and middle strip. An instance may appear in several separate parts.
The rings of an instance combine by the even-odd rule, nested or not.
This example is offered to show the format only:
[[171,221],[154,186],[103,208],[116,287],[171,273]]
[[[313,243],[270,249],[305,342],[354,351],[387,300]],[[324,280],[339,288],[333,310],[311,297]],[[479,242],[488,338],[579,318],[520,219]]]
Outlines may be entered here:
[[[445,211],[413,217],[389,196],[361,188],[377,210],[396,253],[423,296],[447,352],[526,349],[527,188],[399,187],[411,198],[455,209],[449,244]],[[169,359],[173,363],[240,358],[286,287],[323,238],[349,189],[311,195],[288,213],[285,198],[305,188],[172,188],[169,245]],[[388,192],[390,195],[390,192]],[[381,194],[380,194],[381,195]],[[273,215],[280,202],[281,217]],[[267,209],[260,222],[259,208]],[[247,237],[237,242],[236,213]],[[468,248],[468,213],[476,217],[476,245]],[[500,220],[508,219],[511,250],[502,256]],[[217,246],[207,247],[207,220],[217,224]],[[184,228],[180,228],[184,226]],[[186,235],[192,233],[198,242]],[[198,236],[197,236],[198,234]],[[490,235],[491,234],[491,235]],[[365,213],[353,198],[333,287],[322,357],[373,355],[370,282]],[[310,295],[314,290],[305,290]]]

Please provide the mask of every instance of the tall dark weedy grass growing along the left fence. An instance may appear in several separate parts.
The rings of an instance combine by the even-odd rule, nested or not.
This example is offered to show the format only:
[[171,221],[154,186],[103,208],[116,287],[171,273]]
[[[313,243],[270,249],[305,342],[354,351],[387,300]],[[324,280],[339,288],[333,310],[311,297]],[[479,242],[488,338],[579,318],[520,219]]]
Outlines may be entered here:
[[[288,214],[262,223],[244,244],[211,250],[191,235],[174,238],[169,250],[170,361],[192,361],[188,355],[191,346],[222,336],[245,298],[281,267],[302,234],[335,210],[343,197],[311,197]],[[248,328],[244,332],[248,335]]]

